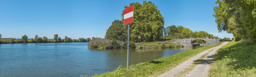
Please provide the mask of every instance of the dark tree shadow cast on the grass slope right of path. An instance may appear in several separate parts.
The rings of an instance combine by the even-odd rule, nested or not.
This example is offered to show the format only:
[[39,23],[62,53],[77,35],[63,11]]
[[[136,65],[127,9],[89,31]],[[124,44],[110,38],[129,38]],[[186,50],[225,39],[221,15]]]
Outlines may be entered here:
[[227,48],[219,49],[216,60],[231,59],[226,65],[233,69],[252,69],[256,67],[256,45],[242,41]]

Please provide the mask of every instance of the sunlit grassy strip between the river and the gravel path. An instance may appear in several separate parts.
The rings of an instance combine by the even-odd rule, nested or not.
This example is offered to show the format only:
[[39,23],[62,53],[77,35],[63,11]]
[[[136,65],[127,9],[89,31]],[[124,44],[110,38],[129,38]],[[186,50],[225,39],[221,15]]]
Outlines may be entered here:
[[168,57],[150,60],[144,63],[138,63],[129,66],[128,69],[120,66],[114,71],[108,71],[106,73],[97,75],[96,77],[148,77],[154,74],[161,74],[164,71],[170,70],[174,66],[177,66],[179,63],[189,59],[190,57],[195,56],[196,54],[199,54],[200,52],[209,48],[219,46],[221,43],[213,46],[189,49],[188,51],[182,51]]

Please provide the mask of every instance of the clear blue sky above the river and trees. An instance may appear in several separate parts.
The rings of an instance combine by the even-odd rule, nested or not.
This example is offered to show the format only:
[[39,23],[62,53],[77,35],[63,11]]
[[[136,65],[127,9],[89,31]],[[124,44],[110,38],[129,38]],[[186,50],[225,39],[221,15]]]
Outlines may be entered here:
[[[148,1],[148,0],[147,0]],[[165,18],[165,27],[183,26],[207,31],[220,38],[213,14],[215,0],[150,0]],[[72,39],[104,38],[114,20],[122,20],[124,6],[143,0],[0,0],[0,34],[3,38],[29,38],[54,34]]]

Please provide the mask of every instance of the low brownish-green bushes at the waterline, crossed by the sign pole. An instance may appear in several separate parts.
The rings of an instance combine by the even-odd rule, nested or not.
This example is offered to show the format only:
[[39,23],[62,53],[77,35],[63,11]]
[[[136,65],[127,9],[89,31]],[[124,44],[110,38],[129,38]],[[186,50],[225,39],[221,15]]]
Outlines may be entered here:
[[[95,39],[91,40],[88,44],[91,48],[100,49],[127,48],[127,42],[120,40]],[[135,44],[131,42],[129,47],[135,48]]]

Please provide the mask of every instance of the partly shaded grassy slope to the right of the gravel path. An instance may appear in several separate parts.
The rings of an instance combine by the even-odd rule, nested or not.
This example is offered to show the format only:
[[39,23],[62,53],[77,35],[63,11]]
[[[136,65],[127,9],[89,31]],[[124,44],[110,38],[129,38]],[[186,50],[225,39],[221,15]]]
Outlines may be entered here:
[[256,44],[230,42],[216,52],[210,77],[256,77]]

